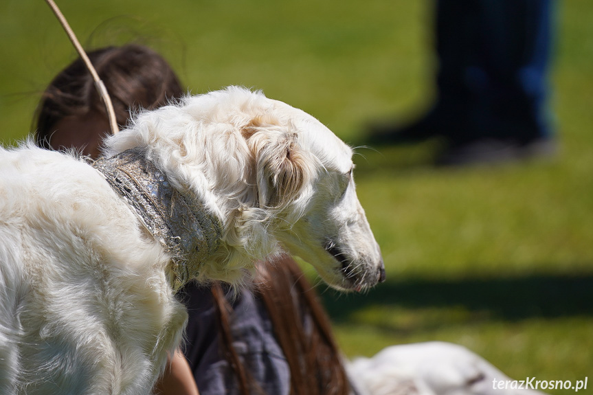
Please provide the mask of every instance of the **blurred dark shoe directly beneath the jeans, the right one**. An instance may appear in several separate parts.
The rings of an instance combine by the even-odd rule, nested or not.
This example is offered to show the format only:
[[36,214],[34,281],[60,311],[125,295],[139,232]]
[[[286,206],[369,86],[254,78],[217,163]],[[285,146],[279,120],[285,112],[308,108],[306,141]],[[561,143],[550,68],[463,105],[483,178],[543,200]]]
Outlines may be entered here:
[[529,142],[512,139],[478,139],[454,144],[436,160],[437,166],[472,166],[520,161],[531,157],[552,157],[557,152],[555,139],[540,137]]

